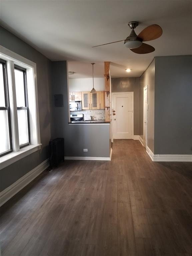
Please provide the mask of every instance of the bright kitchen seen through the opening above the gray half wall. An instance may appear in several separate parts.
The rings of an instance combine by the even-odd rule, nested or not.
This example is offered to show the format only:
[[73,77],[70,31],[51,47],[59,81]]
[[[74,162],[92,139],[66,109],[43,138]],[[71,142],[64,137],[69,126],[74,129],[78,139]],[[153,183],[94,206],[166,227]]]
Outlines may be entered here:
[[105,79],[92,75],[73,78],[69,73],[70,123],[110,123],[105,119]]

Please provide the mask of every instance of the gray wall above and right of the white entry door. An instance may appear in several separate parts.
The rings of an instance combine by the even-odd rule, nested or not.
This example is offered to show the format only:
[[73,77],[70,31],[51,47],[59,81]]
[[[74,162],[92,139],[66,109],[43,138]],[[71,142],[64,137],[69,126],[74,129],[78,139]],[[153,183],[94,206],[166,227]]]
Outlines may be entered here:
[[112,78],[112,92],[134,92],[134,135],[139,135],[139,77]]

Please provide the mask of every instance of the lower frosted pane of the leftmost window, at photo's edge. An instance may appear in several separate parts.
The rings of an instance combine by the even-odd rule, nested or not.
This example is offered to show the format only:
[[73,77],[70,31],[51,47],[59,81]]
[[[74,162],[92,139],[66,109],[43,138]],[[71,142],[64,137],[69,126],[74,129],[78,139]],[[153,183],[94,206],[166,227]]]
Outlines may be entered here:
[[10,150],[7,110],[0,110],[0,153]]

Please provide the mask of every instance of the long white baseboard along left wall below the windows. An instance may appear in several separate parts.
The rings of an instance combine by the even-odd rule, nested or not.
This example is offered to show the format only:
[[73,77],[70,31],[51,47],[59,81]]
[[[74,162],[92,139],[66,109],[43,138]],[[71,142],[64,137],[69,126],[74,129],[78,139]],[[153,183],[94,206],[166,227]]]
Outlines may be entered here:
[[40,173],[49,167],[49,159],[46,159],[33,170],[26,173],[11,186],[0,192],[0,206],[6,203],[11,197],[17,194],[22,188],[27,186],[32,180],[34,180]]

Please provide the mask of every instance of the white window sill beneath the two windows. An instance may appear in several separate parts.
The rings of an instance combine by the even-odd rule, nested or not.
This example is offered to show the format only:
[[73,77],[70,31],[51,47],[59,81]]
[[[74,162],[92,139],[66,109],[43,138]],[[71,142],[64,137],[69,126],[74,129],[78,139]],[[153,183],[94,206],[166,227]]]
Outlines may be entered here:
[[34,153],[37,150],[41,149],[42,144],[38,145],[29,145],[24,148],[21,148],[18,152],[11,152],[0,158],[0,170],[9,166],[10,164],[15,163],[16,161]]

